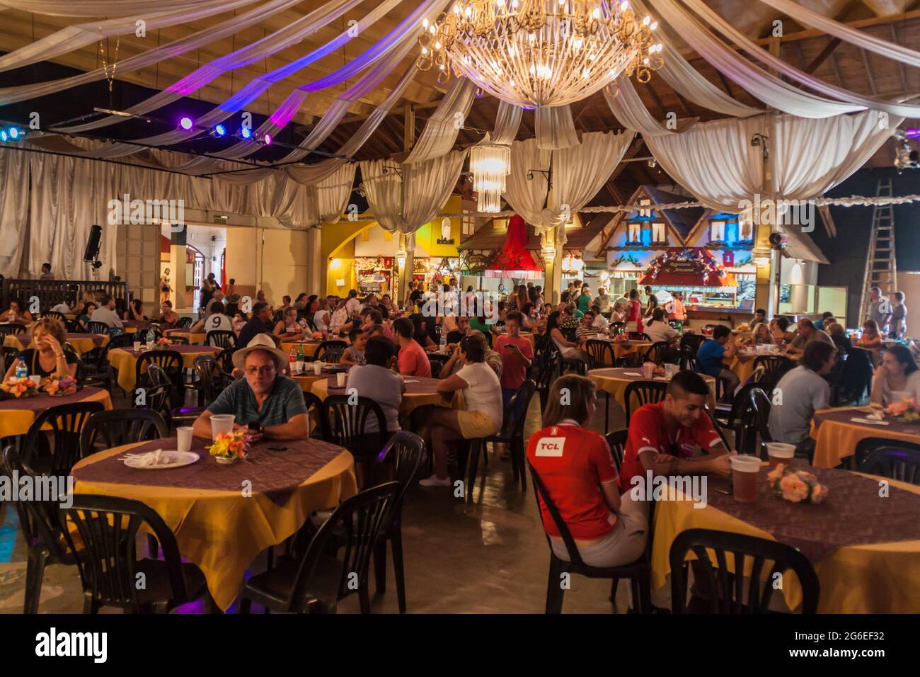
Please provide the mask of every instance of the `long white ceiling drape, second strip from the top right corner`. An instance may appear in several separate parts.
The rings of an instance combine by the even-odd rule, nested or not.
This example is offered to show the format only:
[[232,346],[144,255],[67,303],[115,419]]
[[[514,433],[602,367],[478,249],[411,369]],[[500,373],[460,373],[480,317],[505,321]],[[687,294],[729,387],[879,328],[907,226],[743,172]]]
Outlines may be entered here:
[[735,29],[730,22],[719,17],[719,14],[710,9],[701,0],[684,0],[684,3],[693,9],[700,17],[704,18],[710,26],[730,38],[731,41],[741,47],[745,52],[751,54],[755,59],[758,59],[767,66],[776,68],[779,73],[790,79],[796,80],[817,92],[821,92],[834,99],[839,99],[845,103],[851,103],[876,111],[885,111],[891,113],[891,115],[920,117],[920,106],[912,106],[899,101],[879,99],[878,97],[864,96],[848,89],[836,87],[817,77],[811,76],[811,74],[805,73],[795,66],[787,64],[778,56],[766,51],[763,47],[744,35],[742,31]]

